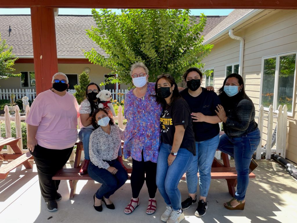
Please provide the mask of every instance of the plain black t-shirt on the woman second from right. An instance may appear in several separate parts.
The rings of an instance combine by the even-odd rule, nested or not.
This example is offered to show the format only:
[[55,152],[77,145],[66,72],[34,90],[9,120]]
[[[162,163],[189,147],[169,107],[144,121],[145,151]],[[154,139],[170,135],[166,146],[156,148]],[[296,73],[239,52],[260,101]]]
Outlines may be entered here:
[[[202,87],[202,92],[197,97],[189,94],[188,88],[180,92],[181,97],[187,101],[191,112],[201,112],[207,116],[217,115],[215,112],[216,106],[221,104],[219,96],[213,92],[208,91]],[[219,124],[211,124],[206,122],[193,122],[193,131],[196,142],[202,142],[213,138],[219,134]]]

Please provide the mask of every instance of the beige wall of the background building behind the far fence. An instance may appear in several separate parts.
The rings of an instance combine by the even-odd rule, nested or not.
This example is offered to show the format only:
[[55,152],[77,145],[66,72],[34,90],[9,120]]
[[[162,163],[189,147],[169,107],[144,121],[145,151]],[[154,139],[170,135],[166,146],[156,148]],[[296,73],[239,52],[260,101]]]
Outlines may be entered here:
[[[104,81],[104,74],[108,74],[110,70],[100,65],[94,64],[58,64],[58,71],[66,74],[77,74],[83,72],[85,67],[90,68],[89,77],[91,82],[100,84]],[[21,71],[34,71],[34,64],[15,64],[15,72],[20,73]],[[26,87],[28,88],[28,87]],[[104,86],[100,87],[104,89]],[[121,84],[121,89],[127,89],[127,85]],[[10,77],[7,80],[0,80],[0,89],[23,89],[20,83],[20,77]],[[24,88],[25,89],[25,88]],[[34,89],[34,88],[31,88]]]

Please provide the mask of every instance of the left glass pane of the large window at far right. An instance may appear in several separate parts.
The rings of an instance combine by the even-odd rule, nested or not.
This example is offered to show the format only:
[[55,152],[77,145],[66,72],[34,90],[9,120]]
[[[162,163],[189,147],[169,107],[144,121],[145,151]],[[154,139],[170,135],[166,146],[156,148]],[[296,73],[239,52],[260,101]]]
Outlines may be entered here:
[[276,57],[264,60],[261,103],[265,108],[273,105],[275,68]]

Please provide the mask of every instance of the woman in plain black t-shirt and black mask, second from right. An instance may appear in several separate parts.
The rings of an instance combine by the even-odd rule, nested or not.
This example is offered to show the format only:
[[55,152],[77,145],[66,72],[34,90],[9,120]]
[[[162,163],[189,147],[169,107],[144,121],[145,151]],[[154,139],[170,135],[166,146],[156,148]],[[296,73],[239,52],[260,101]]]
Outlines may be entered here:
[[214,91],[208,91],[200,86],[202,72],[196,68],[189,68],[184,73],[187,88],[180,92],[187,101],[193,118],[193,131],[196,141],[196,156],[186,172],[189,197],[181,203],[183,210],[197,202],[197,170],[199,170],[199,202],[195,215],[201,217],[206,214],[206,197],[211,182],[211,165],[219,144],[219,122],[215,109],[220,100]]

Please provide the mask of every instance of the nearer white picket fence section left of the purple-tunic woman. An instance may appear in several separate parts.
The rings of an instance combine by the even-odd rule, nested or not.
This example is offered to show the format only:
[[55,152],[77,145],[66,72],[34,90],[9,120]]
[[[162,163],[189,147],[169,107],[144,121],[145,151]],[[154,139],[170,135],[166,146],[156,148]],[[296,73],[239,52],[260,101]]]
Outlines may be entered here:
[[[29,114],[30,107],[26,106],[26,115],[25,116],[20,116],[20,113],[19,113],[20,108],[17,105],[15,106],[15,116],[10,116],[9,108],[8,108],[7,105],[4,107],[4,112],[5,112],[4,117],[0,117],[0,125],[1,125],[2,122],[5,123],[5,137],[11,137],[10,121],[15,121],[16,137],[22,138],[21,121],[26,120],[26,115]],[[123,117],[122,112],[123,112],[123,108],[120,105],[119,108],[118,108],[118,116],[114,116],[113,120],[118,120],[119,127],[123,129],[123,127],[124,127],[124,124],[123,124],[124,117]],[[79,123],[79,118],[78,118],[78,123]],[[27,133],[28,133],[27,125],[26,125],[26,129],[27,129]],[[1,128],[0,128],[0,137],[2,137]],[[28,152],[28,149],[23,149],[22,140],[19,140],[18,147],[20,148],[21,151],[23,151],[23,153]],[[1,150],[0,154],[3,154],[3,152],[8,153],[8,154],[12,154],[13,150],[10,148],[10,146],[7,146],[7,150]],[[69,160],[73,161],[73,156],[72,156],[72,160],[71,159],[69,159]],[[3,160],[0,159],[0,161],[3,161]]]

